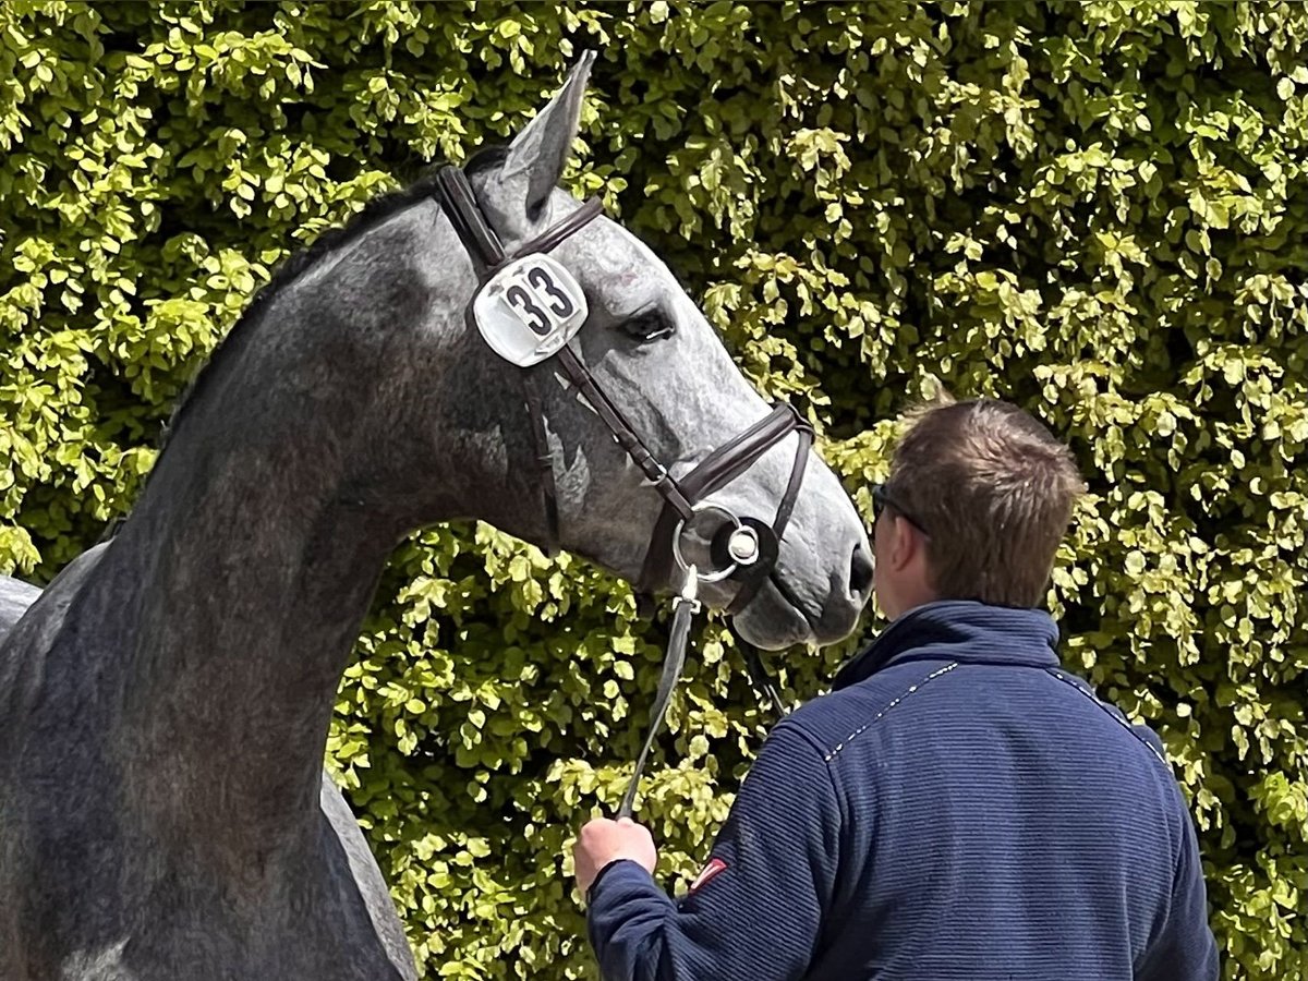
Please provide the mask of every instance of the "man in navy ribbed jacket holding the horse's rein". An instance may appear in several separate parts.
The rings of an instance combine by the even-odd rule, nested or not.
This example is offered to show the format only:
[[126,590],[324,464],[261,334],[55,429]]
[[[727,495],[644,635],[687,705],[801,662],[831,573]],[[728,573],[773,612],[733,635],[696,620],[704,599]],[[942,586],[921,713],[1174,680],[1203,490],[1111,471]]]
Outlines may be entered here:
[[776,727],[689,895],[640,825],[582,828],[604,978],[1216,978],[1162,743],[1059,667],[1036,608],[1080,490],[1014,405],[917,417],[874,492],[893,623]]

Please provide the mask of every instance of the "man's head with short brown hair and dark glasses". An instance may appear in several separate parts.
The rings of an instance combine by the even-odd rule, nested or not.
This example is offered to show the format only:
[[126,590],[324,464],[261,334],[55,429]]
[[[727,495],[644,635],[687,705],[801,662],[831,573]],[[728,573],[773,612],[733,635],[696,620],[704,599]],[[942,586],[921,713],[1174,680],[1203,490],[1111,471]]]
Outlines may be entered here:
[[1066,446],[1016,405],[931,405],[874,492],[876,602],[889,619],[937,599],[1035,607],[1084,490]]

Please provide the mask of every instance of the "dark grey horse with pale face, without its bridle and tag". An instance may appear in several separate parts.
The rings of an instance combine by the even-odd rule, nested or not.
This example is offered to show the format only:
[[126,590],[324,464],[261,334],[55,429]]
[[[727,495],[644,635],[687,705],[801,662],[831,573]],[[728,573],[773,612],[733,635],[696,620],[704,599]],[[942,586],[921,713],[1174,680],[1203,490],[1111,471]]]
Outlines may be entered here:
[[[578,207],[557,183],[590,64],[468,171],[510,247]],[[674,473],[765,415],[632,234],[598,218],[553,255],[590,305],[576,351]],[[467,327],[475,288],[429,190],[371,207],[246,311],[116,536],[39,598],[0,590],[9,617],[35,599],[0,646],[0,978],[415,977],[322,759],[404,534],[475,517],[547,535],[519,369]],[[662,501],[587,405],[547,381],[561,544],[633,578]],[[709,500],[766,513],[795,438]],[[770,649],[829,642],[853,629],[869,585],[858,515],[812,458],[776,570],[736,627]],[[732,587],[701,595],[721,608]]]

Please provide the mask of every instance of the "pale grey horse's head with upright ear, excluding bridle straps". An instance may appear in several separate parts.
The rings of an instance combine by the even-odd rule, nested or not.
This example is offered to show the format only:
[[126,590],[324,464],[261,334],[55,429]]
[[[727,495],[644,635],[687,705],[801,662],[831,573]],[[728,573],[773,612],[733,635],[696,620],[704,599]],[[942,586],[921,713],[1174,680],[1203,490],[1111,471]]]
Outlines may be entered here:
[[[581,207],[557,184],[577,135],[590,64],[583,58],[508,152],[473,171],[481,213],[509,251]],[[549,254],[579,284],[589,309],[573,351],[674,477],[684,477],[768,416],[769,407],[668,268],[617,222],[595,218]],[[581,396],[576,378],[557,358],[530,369],[504,365],[504,371],[519,370],[534,373],[540,392],[557,483],[559,544],[632,581],[645,568],[646,587],[676,589],[675,562],[646,564],[651,532],[666,506],[647,473],[613,439],[610,422],[590,404],[593,399]],[[795,472],[799,438],[789,432],[702,501],[772,525]],[[871,587],[871,556],[857,511],[831,470],[815,455],[806,463],[776,565],[735,617],[742,636],[764,647],[845,636]],[[683,555],[693,553],[688,561],[713,564],[706,542],[714,522],[722,521],[714,509],[691,522],[681,539]],[[530,528],[527,535],[539,538]],[[668,544],[654,542],[664,560]],[[721,548],[717,556],[722,557]],[[706,586],[701,596],[727,607],[738,589],[726,579]]]

